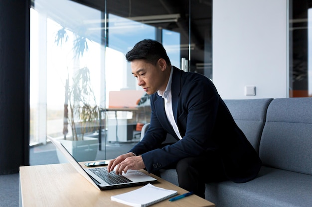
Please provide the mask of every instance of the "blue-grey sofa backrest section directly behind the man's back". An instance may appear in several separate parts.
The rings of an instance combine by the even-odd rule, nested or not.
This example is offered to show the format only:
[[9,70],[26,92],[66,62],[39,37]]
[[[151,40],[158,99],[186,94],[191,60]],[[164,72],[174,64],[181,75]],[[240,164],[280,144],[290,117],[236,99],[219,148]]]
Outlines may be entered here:
[[243,131],[257,152],[259,151],[259,142],[268,105],[272,100],[272,98],[224,100],[237,126]]

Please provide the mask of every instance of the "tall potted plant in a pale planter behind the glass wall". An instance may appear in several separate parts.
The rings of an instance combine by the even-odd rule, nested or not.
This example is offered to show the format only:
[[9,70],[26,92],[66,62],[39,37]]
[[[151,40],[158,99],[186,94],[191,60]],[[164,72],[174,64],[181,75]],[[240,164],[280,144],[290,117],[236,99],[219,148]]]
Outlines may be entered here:
[[[68,35],[63,27],[55,38],[57,45],[67,41]],[[87,40],[80,34],[76,34],[73,51],[78,60],[88,51]],[[64,103],[64,138],[60,142],[73,155],[77,161],[95,160],[98,149],[98,138],[86,136],[99,129],[100,107],[96,103],[95,95],[91,86],[90,70],[88,67],[76,69],[72,78],[66,79],[65,103]],[[71,135],[68,135],[68,124]],[[60,162],[64,162],[63,155],[59,152]]]

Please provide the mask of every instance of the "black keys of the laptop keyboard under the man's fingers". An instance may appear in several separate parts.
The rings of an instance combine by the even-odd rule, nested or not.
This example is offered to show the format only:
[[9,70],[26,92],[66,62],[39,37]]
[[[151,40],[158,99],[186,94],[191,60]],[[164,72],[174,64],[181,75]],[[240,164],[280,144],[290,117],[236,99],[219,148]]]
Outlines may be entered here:
[[116,175],[115,171],[110,173],[107,172],[106,167],[101,168],[90,168],[90,171],[100,177],[108,184],[119,184],[119,183],[131,183],[132,181],[123,175]]

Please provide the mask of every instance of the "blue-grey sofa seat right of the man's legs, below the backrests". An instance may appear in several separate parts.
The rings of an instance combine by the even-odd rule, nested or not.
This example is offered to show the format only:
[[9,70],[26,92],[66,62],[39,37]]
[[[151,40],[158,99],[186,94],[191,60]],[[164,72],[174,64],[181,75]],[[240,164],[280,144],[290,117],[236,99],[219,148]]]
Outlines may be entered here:
[[247,183],[206,184],[205,197],[216,207],[312,207],[311,175],[263,166]]

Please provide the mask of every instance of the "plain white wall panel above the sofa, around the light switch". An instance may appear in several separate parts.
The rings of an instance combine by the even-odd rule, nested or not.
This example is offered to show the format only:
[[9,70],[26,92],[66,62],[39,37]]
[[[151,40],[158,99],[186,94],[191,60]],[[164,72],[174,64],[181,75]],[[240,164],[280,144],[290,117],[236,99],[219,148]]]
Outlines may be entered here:
[[[288,97],[288,0],[213,0],[213,82],[223,99]],[[256,96],[245,96],[245,86]]]

